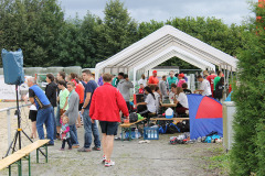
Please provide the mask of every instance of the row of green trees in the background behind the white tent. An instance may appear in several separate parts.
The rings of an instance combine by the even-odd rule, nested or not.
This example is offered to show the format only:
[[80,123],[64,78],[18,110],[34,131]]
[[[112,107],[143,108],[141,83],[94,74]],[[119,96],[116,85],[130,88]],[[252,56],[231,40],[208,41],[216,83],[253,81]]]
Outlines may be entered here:
[[[22,48],[25,67],[95,67],[166,24],[233,56],[243,47],[247,31],[246,25],[203,16],[139,23],[119,0],[109,0],[104,14],[100,19],[87,11],[83,19],[65,19],[57,0],[1,0],[0,48]],[[161,65],[194,68],[176,57]]]

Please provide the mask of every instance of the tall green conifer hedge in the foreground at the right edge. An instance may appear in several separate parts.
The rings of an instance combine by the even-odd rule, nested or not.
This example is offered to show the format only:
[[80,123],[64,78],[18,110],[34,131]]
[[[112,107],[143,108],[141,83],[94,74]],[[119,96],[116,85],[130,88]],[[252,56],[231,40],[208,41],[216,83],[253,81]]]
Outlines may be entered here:
[[[264,19],[265,9],[256,8],[255,13]],[[231,151],[231,175],[264,175],[264,130],[265,130],[265,32],[264,22],[250,25],[247,38],[239,54],[239,84],[233,92],[236,102],[234,117],[234,144]]]

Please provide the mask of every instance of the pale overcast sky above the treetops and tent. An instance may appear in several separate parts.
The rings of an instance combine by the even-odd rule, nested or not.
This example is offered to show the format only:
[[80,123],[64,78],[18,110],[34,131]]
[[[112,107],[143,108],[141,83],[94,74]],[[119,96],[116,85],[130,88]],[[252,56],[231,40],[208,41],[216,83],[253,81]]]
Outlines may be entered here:
[[[78,13],[83,18],[87,11],[104,18],[104,8],[108,0],[60,0],[66,18]],[[120,0],[130,16],[138,22],[166,21],[184,16],[215,16],[224,23],[241,24],[254,15],[247,0]],[[255,1],[255,0],[253,0]],[[258,1],[258,0],[256,0]]]

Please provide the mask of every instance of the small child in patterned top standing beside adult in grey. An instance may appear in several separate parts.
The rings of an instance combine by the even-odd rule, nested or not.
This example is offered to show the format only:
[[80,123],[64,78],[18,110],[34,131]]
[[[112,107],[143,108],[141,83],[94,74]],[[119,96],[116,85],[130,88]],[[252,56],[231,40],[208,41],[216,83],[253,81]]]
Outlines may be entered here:
[[70,139],[68,118],[67,117],[64,117],[63,121],[62,121],[61,140],[62,140],[61,151],[64,151],[65,142],[67,142],[67,144],[68,144],[68,150],[72,150],[72,143],[71,143],[71,139]]

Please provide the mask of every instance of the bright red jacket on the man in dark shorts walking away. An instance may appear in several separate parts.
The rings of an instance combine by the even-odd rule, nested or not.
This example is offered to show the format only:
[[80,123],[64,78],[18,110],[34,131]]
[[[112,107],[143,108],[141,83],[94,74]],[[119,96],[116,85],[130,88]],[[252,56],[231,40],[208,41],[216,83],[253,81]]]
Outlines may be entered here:
[[110,84],[98,87],[92,97],[89,117],[94,120],[120,122],[119,111],[128,117],[128,108],[123,95]]

